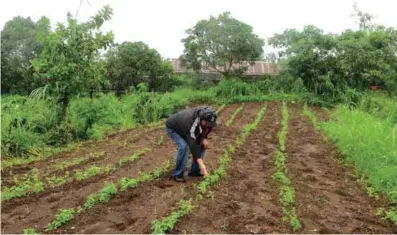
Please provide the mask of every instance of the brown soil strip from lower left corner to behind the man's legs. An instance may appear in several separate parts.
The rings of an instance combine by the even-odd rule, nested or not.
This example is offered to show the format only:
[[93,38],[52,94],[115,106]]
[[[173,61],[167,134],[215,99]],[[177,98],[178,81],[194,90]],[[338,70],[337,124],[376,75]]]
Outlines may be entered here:
[[[219,122],[224,122],[237,107],[238,105],[232,105],[225,108],[219,117]],[[150,139],[149,136],[145,136],[144,139],[147,146],[150,146],[153,142],[153,139]],[[2,233],[21,233],[23,228],[32,225],[44,228],[59,209],[72,208],[83,204],[90,193],[98,191],[103,186],[104,181],[118,182],[122,177],[137,177],[140,171],[152,171],[155,167],[159,167],[165,159],[173,156],[175,154],[174,149],[175,147],[169,138],[164,138],[164,143],[161,146],[154,148],[152,152],[145,154],[141,159],[111,175],[94,177],[85,182],[65,184],[62,187],[49,189],[27,198],[3,203]],[[117,152],[113,153],[113,156],[118,157],[118,155]],[[120,155],[122,154],[120,153]]]

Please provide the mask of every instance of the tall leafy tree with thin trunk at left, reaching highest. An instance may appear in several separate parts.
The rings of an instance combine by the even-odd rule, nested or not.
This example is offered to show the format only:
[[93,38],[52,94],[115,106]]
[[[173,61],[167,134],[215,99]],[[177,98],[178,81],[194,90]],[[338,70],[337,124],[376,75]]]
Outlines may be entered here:
[[45,86],[34,94],[55,96],[62,104],[61,118],[72,96],[105,82],[105,62],[100,58],[100,50],[111,45],[113,33],[102,33],[100,28],[111,15],[112,9],[105,6],[87,22],[79,23],[69,17],[67,25],[58,23],[54,31],[38,36],[43,50],[31,63]]

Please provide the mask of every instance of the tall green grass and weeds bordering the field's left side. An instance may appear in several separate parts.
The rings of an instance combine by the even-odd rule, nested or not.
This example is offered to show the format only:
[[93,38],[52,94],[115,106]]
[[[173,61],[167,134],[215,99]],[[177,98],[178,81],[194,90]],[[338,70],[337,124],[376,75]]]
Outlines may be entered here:
[[1,151],[7,156],[40,154],[48,146],[62,146],[80,139],[102,139],[125,130],[167,118],[189,102],[212,102],[210,91],[179,89],[152,93],[144,85],[118,99],[112,94],[96,98],[75,97],[66,118],[57,123],[59,107],[51,100],[3,96]]

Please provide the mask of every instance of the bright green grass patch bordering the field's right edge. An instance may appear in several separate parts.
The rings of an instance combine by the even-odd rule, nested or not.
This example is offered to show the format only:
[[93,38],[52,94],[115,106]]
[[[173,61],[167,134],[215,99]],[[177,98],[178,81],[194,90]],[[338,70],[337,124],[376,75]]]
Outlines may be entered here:
[[397,126],[360,110],[339,106],[321,129],[368,178],[368,186],[397,202]]

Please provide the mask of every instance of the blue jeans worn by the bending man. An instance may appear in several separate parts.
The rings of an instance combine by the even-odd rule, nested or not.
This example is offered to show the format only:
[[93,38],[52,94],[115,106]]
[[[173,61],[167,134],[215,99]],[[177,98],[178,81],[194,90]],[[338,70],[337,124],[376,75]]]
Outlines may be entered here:
[[[171,128],[166,128],[168,136],[174,141],[176,144],[177,152],[176,152],[176,166],[175,170],[172,173],[172,176],[176,177],[183,177],[183,173],[185,172],[185,167],[187,163],[187,158],[189,155],[189,145],[186,143],[186,141],[178,135],[174,130]],[[200,156],[202,159],[204,159],[205,156],[205,150],[202,149]],[[197,164],[197,161],[192,160],[192,167],[190,169],[191,172],[199,172],[200,167]]]

